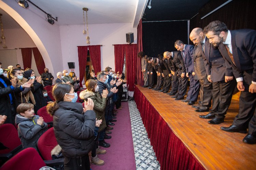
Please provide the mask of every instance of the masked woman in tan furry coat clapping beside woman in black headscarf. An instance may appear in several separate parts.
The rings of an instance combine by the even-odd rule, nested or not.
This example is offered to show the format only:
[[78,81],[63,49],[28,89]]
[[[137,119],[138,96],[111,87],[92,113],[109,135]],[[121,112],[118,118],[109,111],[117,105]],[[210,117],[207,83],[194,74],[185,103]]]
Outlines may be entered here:
[[[10,70],[8,72],[8,79],[12,80],[14,78],[17,78],[17,85],[23,85],[24,83],[26,83],[28,81],[28,79],[23,77],[23,73],[22,70],[20,70],[19,68],[14,68],[12,70]],[[34,99],[34,86],[33,86],[33,82],[34,80],[30,80],[31,82],[31,87],[25,88],[21,93],[19,94],[15,94],[16,100],[17,100],[17,104],[21,104],[21,103],[26,103],[27,101],[31,101],[31,103],[33,105],[35,105],[35,99]]]

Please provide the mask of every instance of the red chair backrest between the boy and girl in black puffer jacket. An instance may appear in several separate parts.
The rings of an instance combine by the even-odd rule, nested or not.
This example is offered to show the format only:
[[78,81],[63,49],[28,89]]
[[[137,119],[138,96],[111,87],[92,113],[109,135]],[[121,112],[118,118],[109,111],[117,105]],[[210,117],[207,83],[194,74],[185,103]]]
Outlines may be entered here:
[[44,160],[52,160],[51,151],[58,145],[53,128],[48,129],[40,136],[37,147]]

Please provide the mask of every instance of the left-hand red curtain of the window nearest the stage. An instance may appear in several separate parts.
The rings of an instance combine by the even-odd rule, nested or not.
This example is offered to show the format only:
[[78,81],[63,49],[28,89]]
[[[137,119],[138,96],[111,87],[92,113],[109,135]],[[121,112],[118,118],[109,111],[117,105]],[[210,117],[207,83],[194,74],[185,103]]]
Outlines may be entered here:
[[124,60],[125,60],[125,46],[124,44],[116,44],[115,48],[115,72],[123,72]]

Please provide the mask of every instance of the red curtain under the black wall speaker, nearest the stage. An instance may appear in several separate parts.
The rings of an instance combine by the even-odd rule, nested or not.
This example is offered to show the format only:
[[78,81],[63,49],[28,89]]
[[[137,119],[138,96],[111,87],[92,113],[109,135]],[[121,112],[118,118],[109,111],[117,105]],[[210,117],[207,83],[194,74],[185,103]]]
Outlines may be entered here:
[[134,91],[136,79],[137,44],[125,44],[126,78],[129,91]]

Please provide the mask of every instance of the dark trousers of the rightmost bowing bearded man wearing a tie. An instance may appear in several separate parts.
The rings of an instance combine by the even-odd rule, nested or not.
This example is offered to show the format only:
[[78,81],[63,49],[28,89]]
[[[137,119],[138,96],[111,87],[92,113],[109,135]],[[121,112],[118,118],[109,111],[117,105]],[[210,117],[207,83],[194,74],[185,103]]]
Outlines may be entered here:
[[248,128],[248,133],[256,135],[256,93],[250,93],[249,86],[252,83],[253,70],[247,70],[243,73],[244,91],[241,91],[239,98],[239,113],[233,121],[233,125],[240,128]]

